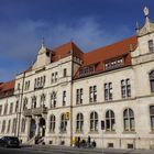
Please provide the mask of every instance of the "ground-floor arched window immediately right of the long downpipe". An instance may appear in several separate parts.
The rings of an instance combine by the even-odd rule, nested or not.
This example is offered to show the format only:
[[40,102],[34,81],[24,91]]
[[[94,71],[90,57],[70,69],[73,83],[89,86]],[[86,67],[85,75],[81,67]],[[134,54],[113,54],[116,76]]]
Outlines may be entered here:
[[76,118],[76,131],[82,132],[82,128],[84,128],[84,116],[82,113],[78,113]]

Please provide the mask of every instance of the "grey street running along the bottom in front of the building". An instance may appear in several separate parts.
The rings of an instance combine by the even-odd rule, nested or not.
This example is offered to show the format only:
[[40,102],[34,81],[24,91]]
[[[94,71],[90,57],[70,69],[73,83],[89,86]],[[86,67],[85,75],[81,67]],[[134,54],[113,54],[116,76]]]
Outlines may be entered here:
[[154,151],[145,150],[102,150],[100,148],[76,148],[63,146],[34,146],[21,148],[0,147],[0,154],[154,154]]

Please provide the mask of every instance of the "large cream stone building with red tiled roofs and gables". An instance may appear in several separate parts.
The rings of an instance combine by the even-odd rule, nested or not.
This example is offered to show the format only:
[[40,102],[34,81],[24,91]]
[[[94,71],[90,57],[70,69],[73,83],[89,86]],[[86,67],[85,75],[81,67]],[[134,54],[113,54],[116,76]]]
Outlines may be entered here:
[[144,16],[136,35],[89,53],[73,42],[42,44],[28,70],[0,84],[0,135],[53,145],[90,135],[98,147],[153,148],[154,23],[146,7]]

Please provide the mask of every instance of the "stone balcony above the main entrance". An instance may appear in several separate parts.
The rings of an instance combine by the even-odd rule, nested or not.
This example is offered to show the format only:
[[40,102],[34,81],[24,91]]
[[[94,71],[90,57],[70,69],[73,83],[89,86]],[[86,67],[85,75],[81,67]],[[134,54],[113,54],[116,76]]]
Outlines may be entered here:
[[25,109],[23,111],[23,116],[25,116],[25,117],[41,116],[43,113],[47,113],[47,108],[46,107],[38,107],[38,108],[34,108],[34,109]]

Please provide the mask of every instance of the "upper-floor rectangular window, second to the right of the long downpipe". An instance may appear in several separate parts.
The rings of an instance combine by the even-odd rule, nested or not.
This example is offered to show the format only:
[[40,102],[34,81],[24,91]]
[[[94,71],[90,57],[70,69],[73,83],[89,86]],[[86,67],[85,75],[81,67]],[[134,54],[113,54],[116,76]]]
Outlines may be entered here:
[[89,102],[97,101],[97,86],[89,87]]

